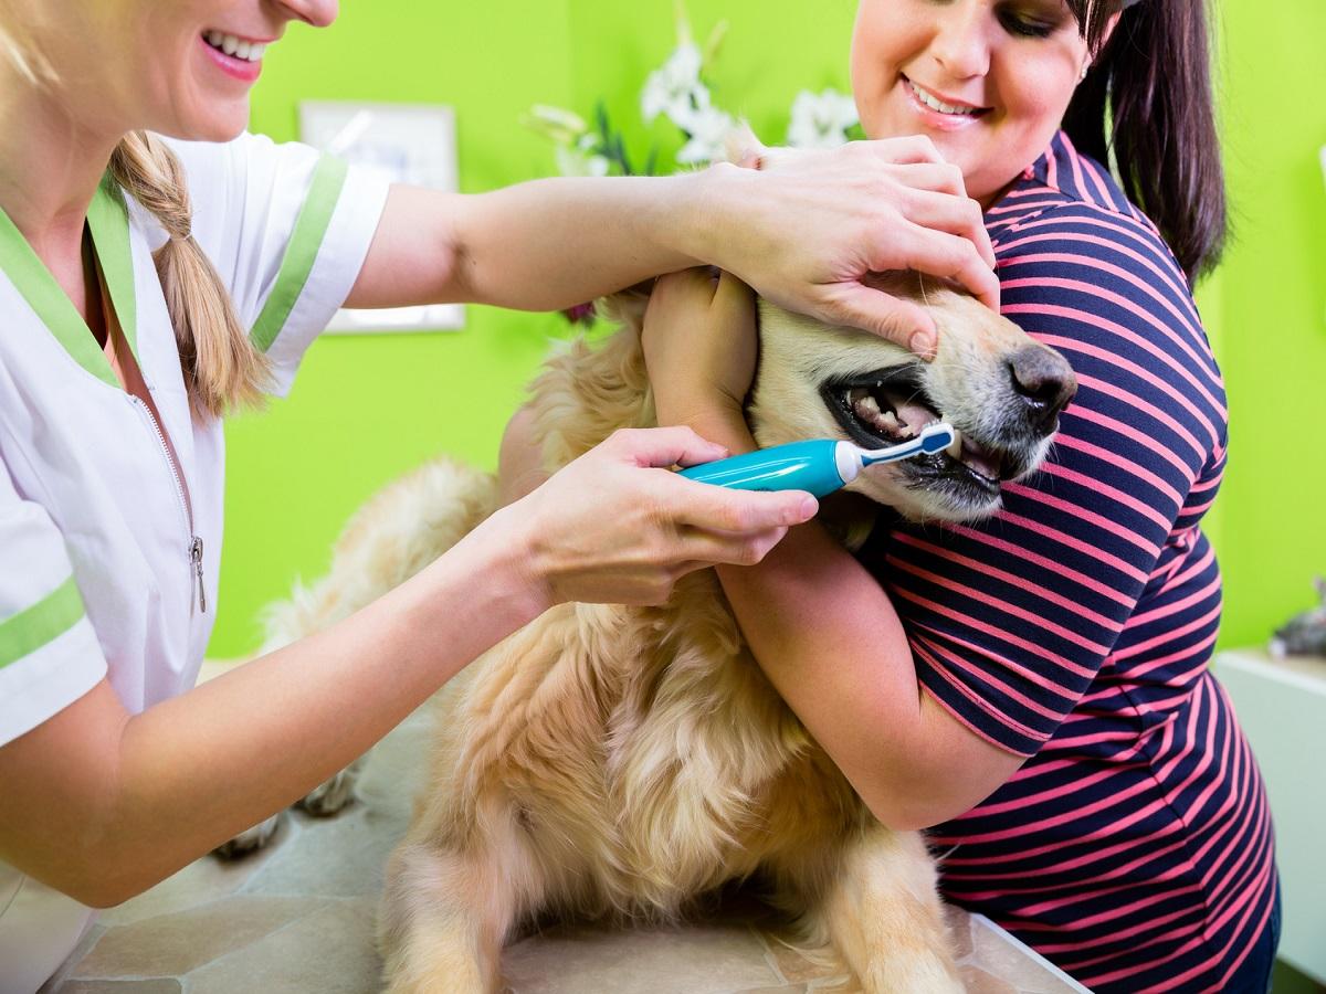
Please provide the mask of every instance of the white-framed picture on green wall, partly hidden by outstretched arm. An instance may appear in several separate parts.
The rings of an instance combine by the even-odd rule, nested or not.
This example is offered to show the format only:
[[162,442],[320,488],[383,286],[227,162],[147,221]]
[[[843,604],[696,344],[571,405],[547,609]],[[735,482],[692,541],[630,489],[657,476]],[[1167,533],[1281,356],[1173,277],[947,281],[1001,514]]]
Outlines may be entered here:
[[[455,192],[456,115],[442,103],[301,101],[300,140],[394,183]],[[341,309],[328,331],[455,331],[459,304],[373,310]]]

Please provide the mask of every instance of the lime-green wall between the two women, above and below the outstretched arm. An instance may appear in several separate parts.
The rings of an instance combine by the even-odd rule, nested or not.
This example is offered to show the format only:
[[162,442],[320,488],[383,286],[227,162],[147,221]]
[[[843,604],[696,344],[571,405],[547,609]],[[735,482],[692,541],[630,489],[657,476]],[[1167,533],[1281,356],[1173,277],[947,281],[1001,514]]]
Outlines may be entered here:
[[[717,99],[757,131],[785,119],[804,85],[847,89],[850,0],[690,8],[700,38],[720,17],[731,23]],[[631,137],[647,138],[638,93],[672,49],[672,11],[671,0],[347,3],[332,28],[292,25],[272,50],[252,127],[294,138],[300,99],[451,103],[463,191],[545,176],[552,148],[518,123],[532,103],[589,114],[602,95]],[[667,138],[663,122],[656,134]],[[221,607],[210,653],[251,652],[260,608],[296,577],[321,575],[345,520],[383,482],[439,452],[496,465],[507,417],[549,342],[565,334],[557,315],[472,306],[459,333],[320,339],[288,400],[227,428]]]

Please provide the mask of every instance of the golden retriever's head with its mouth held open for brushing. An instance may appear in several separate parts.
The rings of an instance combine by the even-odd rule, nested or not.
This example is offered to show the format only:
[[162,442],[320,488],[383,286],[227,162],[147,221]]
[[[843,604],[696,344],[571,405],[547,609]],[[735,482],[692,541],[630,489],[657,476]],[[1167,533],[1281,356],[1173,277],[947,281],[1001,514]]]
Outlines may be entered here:
[[972,297],[915,273],[880,289],[939,327],[924,362],[878,335],[821,325],[760,301],[760,368],[749,420],[761,447],[850,439],[883,448],[944,420],[961,453],[869,467],[850,489],[907,518],[963,521],[1000,506],[1000,485],[1033,472],[1077,390],[1067,360]]

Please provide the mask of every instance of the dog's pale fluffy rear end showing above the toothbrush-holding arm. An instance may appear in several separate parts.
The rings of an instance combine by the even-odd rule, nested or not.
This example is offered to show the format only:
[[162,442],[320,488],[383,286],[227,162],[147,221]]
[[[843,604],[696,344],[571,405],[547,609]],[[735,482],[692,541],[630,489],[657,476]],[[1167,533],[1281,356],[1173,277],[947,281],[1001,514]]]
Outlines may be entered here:
[[328,628],[414,577],[497,508],[497,481],[436,459],[390,484],[350,518],[328,575],[296,580],[288,600],[263,610],[260,655]]

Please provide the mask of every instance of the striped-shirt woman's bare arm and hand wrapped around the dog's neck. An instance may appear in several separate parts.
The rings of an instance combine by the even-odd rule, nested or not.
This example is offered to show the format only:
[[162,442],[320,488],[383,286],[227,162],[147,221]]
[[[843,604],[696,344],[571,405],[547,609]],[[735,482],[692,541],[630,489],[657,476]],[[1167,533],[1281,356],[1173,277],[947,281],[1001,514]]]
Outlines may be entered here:
[[[756,341],[744,286],[700,272],[660,280],[643,341],[660,423],[756,448],[741,414]],[[760,667],[882,823],[944,822],[1022,763],[920,687],[888,594],[818,524],[757,567],[717,573]]]

